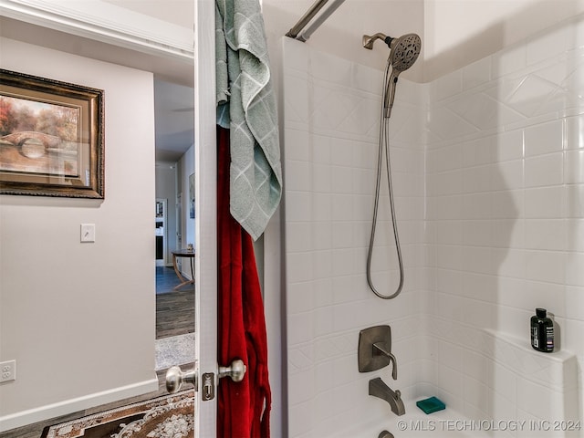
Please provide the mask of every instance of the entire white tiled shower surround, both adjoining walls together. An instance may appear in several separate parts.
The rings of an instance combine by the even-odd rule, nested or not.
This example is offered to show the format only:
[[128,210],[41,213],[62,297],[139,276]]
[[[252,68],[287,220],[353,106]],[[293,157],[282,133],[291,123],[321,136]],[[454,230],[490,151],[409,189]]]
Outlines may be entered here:
[[[357,334],[379,323],[394,328],[406,368],[395,382],[379,375],[405,398],[435,393],[477,420],[584,416],[582,18],[427,86],[401,82],[392,163],[417,283],[390,303],[370,297],[363,278],[379,73],[285,41],[291,436],[387,415],[367,396],[374,373],[356,369]],[[536,307],[560,328],[552,355],[529,347]],[[549,372],[564,361],[564,376]]]

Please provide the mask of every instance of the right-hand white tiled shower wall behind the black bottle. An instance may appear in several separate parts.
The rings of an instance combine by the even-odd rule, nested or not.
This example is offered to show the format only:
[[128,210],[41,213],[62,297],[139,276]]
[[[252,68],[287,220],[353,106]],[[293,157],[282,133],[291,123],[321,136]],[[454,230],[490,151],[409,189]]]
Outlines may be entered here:
[[517,368],[494,362],[494,338],[482,335],[494,329],[528,347],[537,307],[577,355],[583,393],[583,114],[581,16],[430,85],[432,379],[470,417],[563,420],[527,402],[546,406],[553,382],[517,384]]

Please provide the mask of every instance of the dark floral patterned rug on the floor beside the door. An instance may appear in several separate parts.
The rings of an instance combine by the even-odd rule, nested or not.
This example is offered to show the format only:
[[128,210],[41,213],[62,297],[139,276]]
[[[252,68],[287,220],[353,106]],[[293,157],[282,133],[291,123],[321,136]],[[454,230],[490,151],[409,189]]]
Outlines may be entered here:
[[194,391],[49,426],[41,438],[193,438]]

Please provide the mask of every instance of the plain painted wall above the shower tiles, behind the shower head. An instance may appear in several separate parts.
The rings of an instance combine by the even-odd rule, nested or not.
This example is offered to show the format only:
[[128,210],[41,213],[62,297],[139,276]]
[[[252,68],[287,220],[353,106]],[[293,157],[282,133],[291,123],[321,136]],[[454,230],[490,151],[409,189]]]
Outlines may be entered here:
[[[297,23],[312,0],[263,0],[271,45]],[[422,36],[421,59],[403,74],[428,82],[584,12],[584,0],[347,0],[310,37],[308,46],[372,68],[388,50],[361,46],[363,34]]]

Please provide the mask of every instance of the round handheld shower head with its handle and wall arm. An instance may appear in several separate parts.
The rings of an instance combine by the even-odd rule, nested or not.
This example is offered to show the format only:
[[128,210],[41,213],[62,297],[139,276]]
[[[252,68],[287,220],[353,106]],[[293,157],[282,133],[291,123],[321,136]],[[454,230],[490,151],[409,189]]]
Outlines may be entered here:
[[416,59],[420,56],[422,49],[422,39],[416,34],[406,34],[398,38],[385,36],[381,33],[369,36],[363,36],[363,47],[371,50],[373,43],[377,39],[382,39],[385,44],[390,47],[390,57],[388,62],[391,65],[391,76],[387,81],[387,88],[385,90],[385,99],[383,102],[384,117],[389,119],[391,117],[391,108],[393,107],[393,100],[395,99],[395,86],[398,82],[398,76],[402,71],[411,68]]

